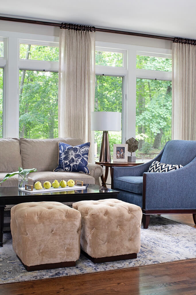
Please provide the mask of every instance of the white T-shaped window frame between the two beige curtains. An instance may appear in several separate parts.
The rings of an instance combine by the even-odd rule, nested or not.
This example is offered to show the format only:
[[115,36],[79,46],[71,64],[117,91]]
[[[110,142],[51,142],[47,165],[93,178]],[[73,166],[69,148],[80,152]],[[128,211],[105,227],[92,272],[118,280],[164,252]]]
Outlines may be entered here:
[[[159,47],[148,47],[142,45],[130,45],[123,43],[111,43],[96,41],[96,48],[106,48],[115,50],[120,50],[125,52],[126,55],[126,68],[117,68],[117,70],[112,70],[109,66],[98,66],[96,65],[96,74],[103,72],[103,74],[124,74],[124,107],[122,109],[123,123],[122,123],[122,143],[130,137],[135,138],[135,127],[136,127],[136,79],[157,79],[157,80],[172,80],[172,73],[166,71],[153,71],[153,70],[143,70],[136,69],[136,56],[156,56],[163,58],[171,58],[172,50]],[[117,51],[116,51],[117,52]],[[103,67],[103,68],[101,68]],[[108,69],[105,69],[108,68]]]

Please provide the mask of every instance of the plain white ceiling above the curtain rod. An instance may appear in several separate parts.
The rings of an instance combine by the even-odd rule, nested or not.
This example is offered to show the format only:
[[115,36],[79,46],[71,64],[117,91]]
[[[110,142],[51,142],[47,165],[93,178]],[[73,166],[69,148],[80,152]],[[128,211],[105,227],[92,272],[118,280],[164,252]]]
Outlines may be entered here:
[[195,0],[9,0],[0,15],[196,39]]

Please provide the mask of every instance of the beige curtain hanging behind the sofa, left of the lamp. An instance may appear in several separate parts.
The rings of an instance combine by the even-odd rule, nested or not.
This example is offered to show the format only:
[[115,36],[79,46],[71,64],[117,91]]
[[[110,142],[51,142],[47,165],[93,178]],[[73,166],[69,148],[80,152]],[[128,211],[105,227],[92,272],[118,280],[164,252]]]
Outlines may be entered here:
[[89,162],[94,162],[91,111],[95,96],[95,33],[60,30],[59,40],[59,137],[91,142]]

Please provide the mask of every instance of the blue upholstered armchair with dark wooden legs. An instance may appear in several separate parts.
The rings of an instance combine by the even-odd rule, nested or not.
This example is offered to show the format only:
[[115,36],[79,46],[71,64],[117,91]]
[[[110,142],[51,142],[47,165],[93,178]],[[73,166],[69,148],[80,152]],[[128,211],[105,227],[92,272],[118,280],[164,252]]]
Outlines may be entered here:
[[[183,167],[166,173],[147,172],[153,161]],[[150,214],[192,213],[196,224],[196,141],[170,140],[151,161],[134,167],[112,168],[112,189],[119,199],[138,205],[143,227]]]

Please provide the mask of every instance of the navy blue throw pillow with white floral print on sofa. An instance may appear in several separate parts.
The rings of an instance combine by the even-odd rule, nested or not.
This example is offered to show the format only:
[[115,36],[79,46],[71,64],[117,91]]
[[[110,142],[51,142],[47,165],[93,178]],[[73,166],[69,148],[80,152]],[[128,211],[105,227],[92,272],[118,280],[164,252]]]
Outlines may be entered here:
[[66,171],[90,174],[87,167],[90,142],[73,147],[60,141],[58,146],[58,167],[53,170],[54,172]]

